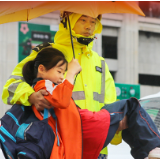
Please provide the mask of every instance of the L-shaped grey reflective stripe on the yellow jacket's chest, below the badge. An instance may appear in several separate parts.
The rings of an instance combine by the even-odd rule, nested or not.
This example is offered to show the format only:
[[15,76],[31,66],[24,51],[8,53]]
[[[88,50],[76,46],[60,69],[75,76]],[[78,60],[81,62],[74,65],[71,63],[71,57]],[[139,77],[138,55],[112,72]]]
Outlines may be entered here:
[[101,79],[101,94],[97,92],[93,92],[93,99],[95,101],[99,101],[100,103],[104,103],[104,93],[105,93],[105,61],[101,61],[102,64],[102,79]]

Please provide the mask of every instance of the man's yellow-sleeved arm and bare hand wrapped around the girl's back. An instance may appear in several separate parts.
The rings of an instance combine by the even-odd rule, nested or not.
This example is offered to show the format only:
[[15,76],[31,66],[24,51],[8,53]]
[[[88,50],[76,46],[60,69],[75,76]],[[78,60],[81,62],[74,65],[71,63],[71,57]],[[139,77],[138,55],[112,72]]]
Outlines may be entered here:
[[34,89],[25,82],[22,75],[24,64],[35,59],[38,52],[33,51],[28,57],[22,60],[13,70],[12,75],[3,87],[2,100],[5,104],[22,104],[30,106],[34,104],[37,110],[43,110],[50,106],[43,95],[48,94],[46,91],[35,93]]

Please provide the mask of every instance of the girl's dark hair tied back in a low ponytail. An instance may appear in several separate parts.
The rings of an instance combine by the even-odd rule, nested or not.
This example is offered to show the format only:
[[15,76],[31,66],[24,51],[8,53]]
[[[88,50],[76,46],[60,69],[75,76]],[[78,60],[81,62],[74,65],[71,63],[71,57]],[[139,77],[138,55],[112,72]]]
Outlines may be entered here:
[[59,61],[62,61],[60,66],[65,63],[68,64],[65,56],[59,50],[51,47],[42,49],[33,61],[29,61],[23,66],[22,74],[25,81],[29,85],[32,85],[33,80],[37,77],[38,66],[40,64],[42,64],[46,70],[49,70],[56,66]]

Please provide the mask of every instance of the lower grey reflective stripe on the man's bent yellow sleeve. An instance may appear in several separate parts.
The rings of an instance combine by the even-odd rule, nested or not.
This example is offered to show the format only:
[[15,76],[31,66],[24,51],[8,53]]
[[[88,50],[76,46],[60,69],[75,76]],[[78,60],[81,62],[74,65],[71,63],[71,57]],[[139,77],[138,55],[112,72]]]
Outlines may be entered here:
[[18,85],[20,84],[21,82],[18,82],[18,83],[13,83],[11,84],[9,87],[8,87],[8,93],[9,93],[9,97],[7,99],[7,103],[8,104],[11,104],[10,101],[12,100],[13,96],[14,96],[14,93],[18,87]]

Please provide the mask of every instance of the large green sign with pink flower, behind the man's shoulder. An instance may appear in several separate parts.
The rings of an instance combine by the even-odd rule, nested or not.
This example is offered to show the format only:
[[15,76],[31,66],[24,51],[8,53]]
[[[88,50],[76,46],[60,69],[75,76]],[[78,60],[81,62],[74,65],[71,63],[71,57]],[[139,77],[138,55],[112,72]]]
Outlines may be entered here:
[[18,62],[27,57],[31,50],[44,42],[54,42],[58,28],[52,29],[50,25],[19,22],[19,54]]

